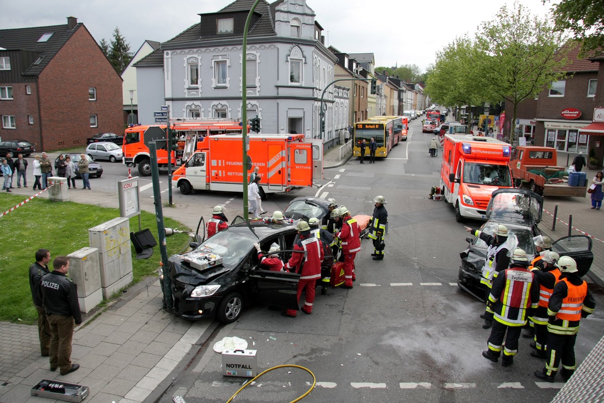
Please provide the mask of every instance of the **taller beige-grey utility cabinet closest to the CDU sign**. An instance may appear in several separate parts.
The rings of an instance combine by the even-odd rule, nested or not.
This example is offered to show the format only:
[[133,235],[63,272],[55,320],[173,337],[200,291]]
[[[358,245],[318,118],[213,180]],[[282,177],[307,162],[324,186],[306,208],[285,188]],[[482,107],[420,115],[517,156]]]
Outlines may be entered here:
[[88,239],[98,249],[101,291],[109,298],[132,282],[129,219],[118,217],[90,228]]

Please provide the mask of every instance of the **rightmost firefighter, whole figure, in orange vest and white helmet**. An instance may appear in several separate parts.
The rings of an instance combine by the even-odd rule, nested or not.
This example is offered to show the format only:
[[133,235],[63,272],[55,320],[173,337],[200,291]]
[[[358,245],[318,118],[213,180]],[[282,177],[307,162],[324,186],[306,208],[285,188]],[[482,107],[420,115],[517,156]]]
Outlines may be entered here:
[[577,263],[570,256],[562,256],[557,262],[561,270],[560,281],[554,286],[547,306],[547,350],[545,367],[535,371],[535,376],[553,382],[560,361],[562,379],[566,382],[577,367],[574,343],[579,332],[579,321],[594,312],[596,300],[581,279]]

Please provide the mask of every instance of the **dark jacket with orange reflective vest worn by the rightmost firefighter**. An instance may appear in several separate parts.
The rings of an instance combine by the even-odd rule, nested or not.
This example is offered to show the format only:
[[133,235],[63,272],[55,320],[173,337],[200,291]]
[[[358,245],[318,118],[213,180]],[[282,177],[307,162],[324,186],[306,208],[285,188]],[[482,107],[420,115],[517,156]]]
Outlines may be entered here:
[[594,312],[596,300],[578,275],[563,274],[551,293],[547,314],[550,321],[547,330],[561,335],[574,335],[579,332],[579,321]]

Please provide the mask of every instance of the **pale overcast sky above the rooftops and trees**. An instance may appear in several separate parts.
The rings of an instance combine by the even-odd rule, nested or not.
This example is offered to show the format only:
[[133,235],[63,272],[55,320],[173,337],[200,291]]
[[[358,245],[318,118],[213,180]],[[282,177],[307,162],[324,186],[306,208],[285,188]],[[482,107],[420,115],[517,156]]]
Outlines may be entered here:
[[[533,15],[551,7],[518,0]],[[94,39],[111,39],[115,27],[136,51],[146,39],[164,42],[233,0],[0,0],[0,28],[66,24],[74,16]],[[269,1],[271,2],[271,1]],[[434,62],[435,51],[464,33],[474,34],[513,0],[307,0],[324,28],[326,44],[346,53],[373,52],[377,66]]]

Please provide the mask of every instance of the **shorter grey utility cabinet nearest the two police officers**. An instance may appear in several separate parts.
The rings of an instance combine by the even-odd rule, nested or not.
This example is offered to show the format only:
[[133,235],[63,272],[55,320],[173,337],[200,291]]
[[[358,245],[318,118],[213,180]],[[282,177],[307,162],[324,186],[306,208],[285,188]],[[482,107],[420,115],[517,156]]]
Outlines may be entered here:
[[97,248],[82,248],[67,255],[69,277],[77,285],[80,311],[89,312],[103,300]]

